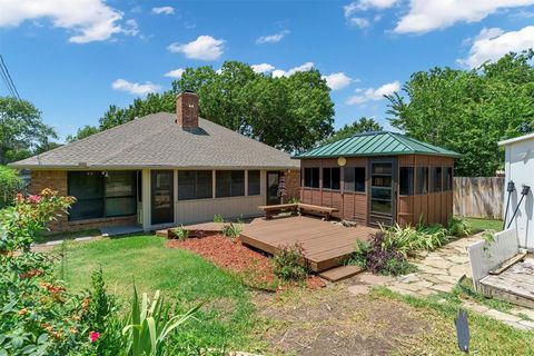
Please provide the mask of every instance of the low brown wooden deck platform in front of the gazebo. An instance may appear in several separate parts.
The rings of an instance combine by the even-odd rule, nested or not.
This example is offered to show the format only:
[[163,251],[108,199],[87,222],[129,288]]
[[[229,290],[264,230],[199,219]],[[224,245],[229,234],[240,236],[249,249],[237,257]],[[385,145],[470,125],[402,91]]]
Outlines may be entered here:
[[366,226],[344,227],[304,216],[257,218],[245,227],[240,239],[268,254],[275,254],[280,246],[300,243],[312,270],[323,271],[339,266],[354,251],[356,239],[367,239],[375,231]]

